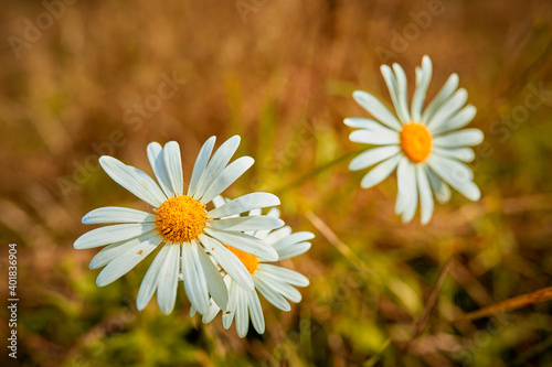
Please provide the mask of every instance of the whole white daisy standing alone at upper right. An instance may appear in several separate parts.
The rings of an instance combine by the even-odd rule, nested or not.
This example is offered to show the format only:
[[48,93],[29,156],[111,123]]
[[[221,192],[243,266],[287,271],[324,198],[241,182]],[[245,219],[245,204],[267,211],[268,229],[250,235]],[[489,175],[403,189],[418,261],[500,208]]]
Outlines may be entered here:
[[395,107],[392,114],[374,96],[357,90],[353,98],[375,120],[347,118],[344,123],[355,128],[349,136],[353,142],[372,145],[355,156],[349,164],[351,171],[375,165],[364,175],[361,186],[371,187],[385,180],[395,169],[397,175],[397,198],[395,213],[402,214],[403,223],[411,222],[417,208],[418,196],[422,224],[429,222],[433,214],[433,193],[442,203],[450,198],[454,187],[471,201],[480,197],[473,182],[471,170],[463,162],[475,158],[468,148],[479,144],[484,134],[478,129],[464,129],[476,115],[476,108],[466,104],[466,89],[458,88],[458,75],[453,74],[440,91],[425,107],[425,94],[432,79],[432,61],[422,60],[416,67],[416,89],[408,109],[406,76],[399,64],[393,69],[381,67],[383,78]]

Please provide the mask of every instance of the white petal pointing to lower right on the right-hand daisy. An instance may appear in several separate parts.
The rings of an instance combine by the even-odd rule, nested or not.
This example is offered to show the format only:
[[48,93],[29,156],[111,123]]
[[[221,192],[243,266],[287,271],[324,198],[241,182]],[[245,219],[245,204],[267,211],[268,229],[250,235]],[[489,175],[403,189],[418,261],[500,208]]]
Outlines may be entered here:
[[471,171],[465,164],[435,154],[429,158],[427,164],[437,175],[470,201],[478,201],[481,196],[479,187],[471,181]]

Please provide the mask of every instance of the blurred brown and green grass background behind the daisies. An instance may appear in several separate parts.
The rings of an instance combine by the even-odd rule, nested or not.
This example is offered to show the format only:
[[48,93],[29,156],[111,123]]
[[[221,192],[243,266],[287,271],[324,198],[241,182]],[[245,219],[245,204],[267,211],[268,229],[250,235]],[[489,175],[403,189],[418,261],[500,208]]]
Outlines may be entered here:
[[[550,302],[453,322],[552,283],[550,1],[60,3],[8,0],[0,12],[0,236],[18,244],[17,365],[552,365]],[[486,142],[473,164],[481,201],[455,193],[422,227],[393,214],[394,180],[360,188],[363,172],[347,165],[362,147],[342,120],[368,117],[354,89],[390,105],[382,63],[405,68],[412,94],[424,54],[429,96],[458,73]],[[166,99],[163,75],[180,80]],[[240,339],[220,317],[190,319],[182,288],[171,315],[153,301],[138,313],[152,257],[98,289],[97,250],[73,249],[91,229],[81,217],[146,209],[99,170],[98,152],[150,172],[147,143],[177,140],[189,177],[204,140],[235,133],[256,163],[227,196],[275,192],[284,219],[317,234],[285,263],[311,280],[304,301],[288,313],[263,301],[265,334]],[[0,360],[13,363],[6,349]]]

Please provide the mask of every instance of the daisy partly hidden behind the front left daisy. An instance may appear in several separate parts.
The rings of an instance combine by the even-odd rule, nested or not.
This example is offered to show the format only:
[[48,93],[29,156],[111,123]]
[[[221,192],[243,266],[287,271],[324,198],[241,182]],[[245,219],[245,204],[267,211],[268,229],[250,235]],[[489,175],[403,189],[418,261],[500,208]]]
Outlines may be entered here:
[[[219,205],[224,203],[221,197]],[[250,216],[257,216],[261,211],[251,211]],[[268,216],[279,218],[279,211],[272,208]],[[286,226],[276,230],[256,230],[251,235],[264,240],[273,249],[278,252],[279,260],[289,259],[295,256],[306,252],[310,248],[308,240],[315,238],[315,235],[309,231],[299,231],[291,234],[291,228]],[[222,323],[224,328],[230,328],[235,317],[237,335],[244,337],[250,327],[250,315],[253,327],[259,334],[265,332],[265,320],[263,309],[258,299],[257,291],[263,296],[282,311],[289,311],[291,307],[287,300],[298,303],[301,301],[301,293],[295,287],[307,287],[309,280],[297,271],[282,268],[269,262],[273,260],[246,253],[232,246],[226,246],[229,250],[235,253],[247,271],[253,277],[255,290],[243,288],[233,279],[232,274],[226,274],[224,281],[229,289],[230,300],[229,306],[222,314]],[[287,299],[287,300],[286,300]],[[202,317],[203,323],[210,323],[219,314],[221,307],[211,302],[211,310]],[[193,315],[195,310],[190,310],[190,315]]]

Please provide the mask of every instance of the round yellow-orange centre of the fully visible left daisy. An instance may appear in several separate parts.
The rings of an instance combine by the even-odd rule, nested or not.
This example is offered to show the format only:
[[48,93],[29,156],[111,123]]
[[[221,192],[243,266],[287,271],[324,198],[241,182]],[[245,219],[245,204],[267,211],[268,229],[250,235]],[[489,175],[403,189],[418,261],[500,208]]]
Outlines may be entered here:
[[168,198],[157,209],[157,229],[167,241],[189,242],[203,233],[205,206],[190,196]]

